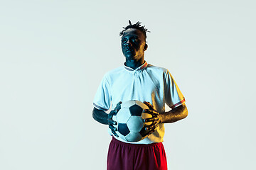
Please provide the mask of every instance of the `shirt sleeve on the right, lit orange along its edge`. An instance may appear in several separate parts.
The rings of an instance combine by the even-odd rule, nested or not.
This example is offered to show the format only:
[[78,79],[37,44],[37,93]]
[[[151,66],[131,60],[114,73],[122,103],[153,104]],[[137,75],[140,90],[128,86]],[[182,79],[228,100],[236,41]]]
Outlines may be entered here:
[[166,105],[168,105],[170,108],[176,108],[184,103],[185,98],[183,94],[181,94],[180,89],[178,89],[174,78],[171,76],[168,70],[166,70],[164,81],[164,98]]

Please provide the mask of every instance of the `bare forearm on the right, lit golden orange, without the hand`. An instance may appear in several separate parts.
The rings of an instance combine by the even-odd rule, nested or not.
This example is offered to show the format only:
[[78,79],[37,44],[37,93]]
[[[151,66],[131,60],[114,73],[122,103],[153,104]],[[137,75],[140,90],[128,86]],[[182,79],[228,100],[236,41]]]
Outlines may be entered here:
[[160,122],[159,123],[174,123],[178,120],[186,118],[188,115],[188,109],[185,103],[172,109],[169,112],[159,113]]

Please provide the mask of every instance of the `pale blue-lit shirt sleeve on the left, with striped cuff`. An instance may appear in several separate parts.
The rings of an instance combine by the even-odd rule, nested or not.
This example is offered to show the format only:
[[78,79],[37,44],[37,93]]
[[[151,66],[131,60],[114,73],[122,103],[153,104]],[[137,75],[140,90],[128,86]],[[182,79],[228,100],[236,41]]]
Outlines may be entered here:
[[110,94],[110,84],[107,81],[106,75],[103,77],[100,86],[97,89],[95,98],[93,100],[93,105],[95,108],[102,111],[108,111],[110,109],[111,94]]

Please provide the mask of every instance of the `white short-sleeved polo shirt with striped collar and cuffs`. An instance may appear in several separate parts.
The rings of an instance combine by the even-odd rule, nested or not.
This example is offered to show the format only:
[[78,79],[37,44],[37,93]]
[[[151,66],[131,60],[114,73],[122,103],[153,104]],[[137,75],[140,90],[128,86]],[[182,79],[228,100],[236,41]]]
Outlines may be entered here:
[[[114,109],[119,101],[129,100],[147,101],[159,113],[165,111],[165,103],[170,108],[176,108],[185,102],[170,72],[165,68],[147,64],[146,61],[137,69],[124,65],[107,72],[97,89],[93,104],[97,109],[108,111],[110,107]],[[126,142],[119,137],[115,138]],[[163,138],[164,123],[159,123],[151,135],[144,140],[131,143],[151,144],[163,142]]]

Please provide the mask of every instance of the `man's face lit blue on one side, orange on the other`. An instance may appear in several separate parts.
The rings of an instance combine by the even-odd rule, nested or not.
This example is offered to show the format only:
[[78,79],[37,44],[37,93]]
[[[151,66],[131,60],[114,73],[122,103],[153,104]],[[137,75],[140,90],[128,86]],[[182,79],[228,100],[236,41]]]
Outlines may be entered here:
[[129,28],[125,30],[121,39],[122,53],[127,60],[144,59],[144,51],[147,48],[145,35],[141,30]]

